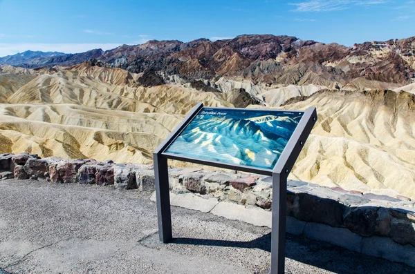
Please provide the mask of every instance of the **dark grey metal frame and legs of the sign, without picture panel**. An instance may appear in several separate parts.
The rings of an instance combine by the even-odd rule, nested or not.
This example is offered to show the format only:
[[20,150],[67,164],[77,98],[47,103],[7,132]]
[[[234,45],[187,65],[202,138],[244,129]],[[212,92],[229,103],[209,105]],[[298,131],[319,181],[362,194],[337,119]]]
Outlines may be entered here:
[[[231,170],[246,171],[260,175],[273,177],[273,219],[271,231],[271,273],[282,274],[285,268],[285,236],[286,236],[286,190],[287,177],[295,164],[304,143],[310,135],[311,130],[317,121],[317,111],[314,107],[308,108],[300,119],[293,135],[282,151],[277,163],[272,170],[266,168],[255,168],[252,166],[241,166],[233,164],[224,164],[221,162],[205,161],[201,159],[182,157],[171,153],[165,153],[165,150],[181,134],[190,121],[199,114],[203,104],[197,104],[181,121],[181,123],[172,131],[172,133],[163,141],[156,150],[154,150],[154,176],[156,181],[156,199],[157,199],[157,217],[158,217],[158,235],[161,242],[167,244],[173,238],[172,235],[172,214],[170,211],[169,196],[169,174],[167,159],[176,159],[183,162],[195,164],[205,164],[218,168],[228,168]],[[209,107],[210,108],[210,107]],[[220,109],[220,108],[216,108]],[[235,109],[235,108],[232,108]],[[243,110],[249,110],[243,108]],[[297,112],[288,110],[289,112]]]

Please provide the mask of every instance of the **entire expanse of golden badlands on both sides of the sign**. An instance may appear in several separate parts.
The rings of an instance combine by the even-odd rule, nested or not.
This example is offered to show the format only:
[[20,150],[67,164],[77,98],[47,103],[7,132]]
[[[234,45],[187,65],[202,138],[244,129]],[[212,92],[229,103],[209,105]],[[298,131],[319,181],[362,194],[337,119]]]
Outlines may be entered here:
[[317,125],[291,179],[415,198],[413,84],[384,91],[370,81],[367,91],[331,91],[324,83],[266,87],[221,78],[216,86],[223,92],[205,92],[180,79],[147,88],[140,77],[86,63],[1,68],[0,153],[151,164],[154,148],[198,102],[241,107],[256,98],[261,105],[249,108],[317,107]]

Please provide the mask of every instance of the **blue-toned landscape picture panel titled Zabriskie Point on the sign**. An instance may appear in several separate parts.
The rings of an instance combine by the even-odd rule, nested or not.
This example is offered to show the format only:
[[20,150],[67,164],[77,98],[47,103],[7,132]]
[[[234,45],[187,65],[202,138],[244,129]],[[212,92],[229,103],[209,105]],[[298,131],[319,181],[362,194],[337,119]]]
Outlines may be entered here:
[[165,153],[272,169],[303,114],[281,110],[203,108]]

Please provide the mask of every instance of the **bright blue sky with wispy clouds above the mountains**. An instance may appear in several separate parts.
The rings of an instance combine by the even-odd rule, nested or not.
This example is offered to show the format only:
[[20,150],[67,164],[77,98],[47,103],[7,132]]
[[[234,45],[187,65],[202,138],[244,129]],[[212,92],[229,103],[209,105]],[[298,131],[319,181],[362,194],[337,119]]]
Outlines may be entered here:
[[0,0],[0,18],[0,57],[252,33],[346,46],[415,36],[414,0]]

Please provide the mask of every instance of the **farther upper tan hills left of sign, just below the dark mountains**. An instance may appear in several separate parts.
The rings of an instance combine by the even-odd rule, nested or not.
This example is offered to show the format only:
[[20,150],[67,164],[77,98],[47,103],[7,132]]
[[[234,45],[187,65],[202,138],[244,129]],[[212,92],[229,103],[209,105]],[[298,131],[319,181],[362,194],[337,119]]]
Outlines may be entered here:
[[[120,72],[108,68],[104,70]],[[78,104],[130,112],[177,114],[185,114],[195,102],[199,101],[207,106],[232,105],[218,92],[197,92],[171,85],[135,88],[127,84],[119,84],[119,81],[127,81],[129,76],[125,70],[122,72],[125,72],[124,79],[120,75],[117,77],[109,77],[102,73],[84,75],[85,71],[73,70],[39,75],[8,97],[8,101],[10,104]],[[116,84],[111,84],[114,82]]]

